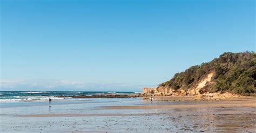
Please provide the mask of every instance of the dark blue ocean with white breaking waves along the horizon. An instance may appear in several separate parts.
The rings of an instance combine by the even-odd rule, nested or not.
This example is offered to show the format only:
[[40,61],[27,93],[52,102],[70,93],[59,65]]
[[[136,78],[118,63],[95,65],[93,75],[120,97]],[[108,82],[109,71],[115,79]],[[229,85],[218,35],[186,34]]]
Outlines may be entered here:
[[114,92],[114,91],[0,91],[0,102],[18,101],[54,101],[72,100],[71,97],[59,98],[58,95],[105,95],[105,94],[138,94],[141,92]]

